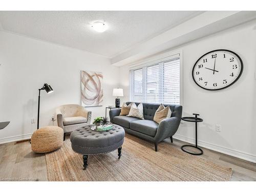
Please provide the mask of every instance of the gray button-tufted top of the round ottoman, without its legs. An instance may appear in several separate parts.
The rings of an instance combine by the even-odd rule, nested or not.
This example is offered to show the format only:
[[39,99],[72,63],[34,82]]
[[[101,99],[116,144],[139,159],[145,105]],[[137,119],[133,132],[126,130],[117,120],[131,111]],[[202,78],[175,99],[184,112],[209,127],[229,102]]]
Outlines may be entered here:
[[92,131],[91,125],[86,125],[73,131],[70,141],[72,146],[79,146],[80,148],[103,148],[121,142],[124,134],[123,127],[116,124],[113,124],[112,130],[102,132]]

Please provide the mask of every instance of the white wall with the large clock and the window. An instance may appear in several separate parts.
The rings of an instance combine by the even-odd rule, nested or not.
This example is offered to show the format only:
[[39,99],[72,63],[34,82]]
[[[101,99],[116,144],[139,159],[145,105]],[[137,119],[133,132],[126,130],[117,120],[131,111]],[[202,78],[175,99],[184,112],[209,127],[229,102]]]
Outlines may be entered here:
[[[199,113],[199,145],[256,162],[256,22],[228,29],[175,48],[183,51],[183,116]],[[196,86],[191,71],[197,59],[215,49],[228,49],[244,62],[241,78],[231,87],[207,91]],[[168,50],[170,51],[170,50]],[[123,101],[129,100],[129,67],[120,68]],[[221,132],[215,125],[222,126]],[[175,138],[194,143],[195,124],[184,122]]]

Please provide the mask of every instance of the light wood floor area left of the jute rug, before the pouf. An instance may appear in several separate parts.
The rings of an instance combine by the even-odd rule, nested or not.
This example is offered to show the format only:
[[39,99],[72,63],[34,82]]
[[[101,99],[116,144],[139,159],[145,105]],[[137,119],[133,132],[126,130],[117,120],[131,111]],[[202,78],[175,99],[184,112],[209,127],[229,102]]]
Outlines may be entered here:
[[35,178],[47,181],[45,154],[32,152],[28,141],[0,145],[0,179]]

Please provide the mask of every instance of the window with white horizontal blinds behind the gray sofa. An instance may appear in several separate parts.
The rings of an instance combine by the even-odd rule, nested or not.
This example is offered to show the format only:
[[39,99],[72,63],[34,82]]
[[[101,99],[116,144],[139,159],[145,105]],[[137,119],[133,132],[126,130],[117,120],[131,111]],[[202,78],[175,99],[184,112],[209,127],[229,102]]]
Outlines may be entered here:
[[180,104],[180,56],[130,70],[130,100]]

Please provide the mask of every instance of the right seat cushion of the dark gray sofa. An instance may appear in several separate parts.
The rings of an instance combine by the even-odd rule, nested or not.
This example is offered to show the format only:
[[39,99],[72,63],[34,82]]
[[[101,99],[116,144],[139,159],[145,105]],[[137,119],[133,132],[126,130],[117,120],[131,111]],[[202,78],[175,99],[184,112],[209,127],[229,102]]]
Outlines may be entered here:
[[130,129],[154,137],[157,133],[158,123],[152,120],[138,120],[130,124]]

